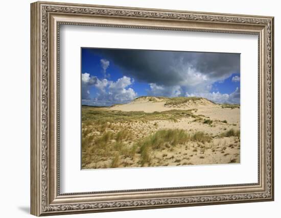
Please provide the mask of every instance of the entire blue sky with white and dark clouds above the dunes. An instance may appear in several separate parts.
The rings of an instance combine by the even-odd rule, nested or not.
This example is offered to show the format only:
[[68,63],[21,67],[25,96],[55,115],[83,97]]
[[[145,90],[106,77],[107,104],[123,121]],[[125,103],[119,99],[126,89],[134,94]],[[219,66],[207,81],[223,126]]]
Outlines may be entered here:
[[82,105],[147,95],[240,104],[240,54],[81,48]]

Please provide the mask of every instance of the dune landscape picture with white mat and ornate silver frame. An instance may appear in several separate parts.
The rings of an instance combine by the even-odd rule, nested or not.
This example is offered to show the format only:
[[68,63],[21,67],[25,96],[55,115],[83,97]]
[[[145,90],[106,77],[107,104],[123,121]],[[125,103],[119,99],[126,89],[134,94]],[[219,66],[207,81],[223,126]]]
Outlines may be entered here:
[[31,4],[31,213],[274,199],[273,17]]

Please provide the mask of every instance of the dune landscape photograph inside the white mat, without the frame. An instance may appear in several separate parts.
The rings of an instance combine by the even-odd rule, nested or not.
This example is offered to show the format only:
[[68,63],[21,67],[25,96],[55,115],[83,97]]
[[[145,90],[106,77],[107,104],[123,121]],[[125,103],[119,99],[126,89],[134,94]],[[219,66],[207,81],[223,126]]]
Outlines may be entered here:
[[240,163],[240,54],[81,48],[81,168]]

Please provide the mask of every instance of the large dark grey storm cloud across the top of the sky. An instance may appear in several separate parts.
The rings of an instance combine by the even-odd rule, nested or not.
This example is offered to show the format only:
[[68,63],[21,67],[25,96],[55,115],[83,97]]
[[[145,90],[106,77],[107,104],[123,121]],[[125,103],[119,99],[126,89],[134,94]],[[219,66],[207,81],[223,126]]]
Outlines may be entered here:
[[91,49],[122,72],[147,83],[165,86],[206,85],[240,74],[240,54]]

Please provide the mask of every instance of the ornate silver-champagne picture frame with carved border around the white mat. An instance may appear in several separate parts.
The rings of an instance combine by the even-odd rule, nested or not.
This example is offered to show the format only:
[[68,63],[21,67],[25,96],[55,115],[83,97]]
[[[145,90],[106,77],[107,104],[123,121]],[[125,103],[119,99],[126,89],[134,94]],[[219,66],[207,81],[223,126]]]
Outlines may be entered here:
[[[31,214],[55,215],[273,201],[273,17],[97,5],[31,4]],[[259,175],[254,184],[67,193],[59,189],[59,26],[259,36]]]

